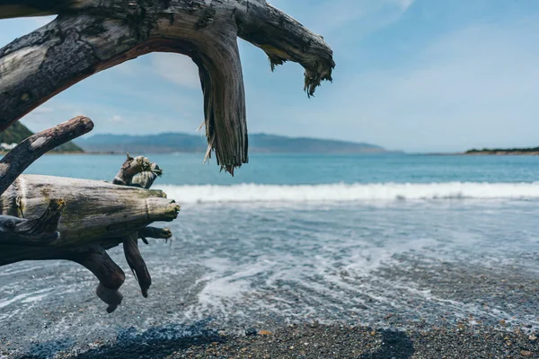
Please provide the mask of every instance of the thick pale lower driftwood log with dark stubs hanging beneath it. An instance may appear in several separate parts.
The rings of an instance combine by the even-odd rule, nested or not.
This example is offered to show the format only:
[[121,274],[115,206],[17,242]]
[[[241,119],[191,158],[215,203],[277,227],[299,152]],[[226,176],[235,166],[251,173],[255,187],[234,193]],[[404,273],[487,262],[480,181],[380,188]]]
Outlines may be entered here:
[[[90,269],[100,280],[98,296],[113,311],[121,302],[119,286],[125,275],[107,255],[107,249],[123,243],[129,267],[133,269],[144,296],[151,279],[140,256],[137,238],[168,239],[168,229],[146,227],[158,221],[172,221],[180,206],[160,190],[118,186],[104,181],[22,175],[0,197],[2,218],[41,214],[47,198],[61,197],[61,237],[42,241],[40,246],[28,241],[0,240],[0,266],[28,259],[68,259]],[[0,238],[2,236],[0,235]]]

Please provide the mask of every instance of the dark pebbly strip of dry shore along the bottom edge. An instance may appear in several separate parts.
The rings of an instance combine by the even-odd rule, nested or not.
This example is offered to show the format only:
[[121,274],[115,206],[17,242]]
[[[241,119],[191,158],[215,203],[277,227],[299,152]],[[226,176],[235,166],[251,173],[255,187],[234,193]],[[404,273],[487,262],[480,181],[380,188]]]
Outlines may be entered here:
[[[254,331],[253,331],[254,333]],[[537,358],[538,334],[483,326],[424,331],[304,324],[245,336],[153,340],[142,335],[57,358]],[[39,357],[26,355],[24,358]]]

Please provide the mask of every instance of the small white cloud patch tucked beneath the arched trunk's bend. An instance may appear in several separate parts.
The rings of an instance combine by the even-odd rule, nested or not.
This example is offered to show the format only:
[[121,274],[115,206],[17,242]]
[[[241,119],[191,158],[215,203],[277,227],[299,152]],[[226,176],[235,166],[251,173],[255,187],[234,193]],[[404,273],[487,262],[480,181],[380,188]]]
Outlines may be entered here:
[[199,68],[185,55],[152,54],[152,68],[163,79],[188,89],[199,89]]

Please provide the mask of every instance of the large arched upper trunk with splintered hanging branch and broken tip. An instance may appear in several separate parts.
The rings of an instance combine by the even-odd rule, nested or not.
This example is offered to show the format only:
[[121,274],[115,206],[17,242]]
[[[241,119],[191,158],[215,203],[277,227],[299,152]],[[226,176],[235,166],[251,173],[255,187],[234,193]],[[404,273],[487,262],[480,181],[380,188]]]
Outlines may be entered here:
[[214,150],[217,162],[233,173],[248,161],[237,36],[262,48],[272,68],[287,60],[304,66],[309,95],[331,80],[334,62],[323,38],[264,0],[54,3],[22,3],[38,10],[29,14],[59,15],[0,49],[0,129],[91,74],[149,52],[176,52],[199,66],[208,155]]

